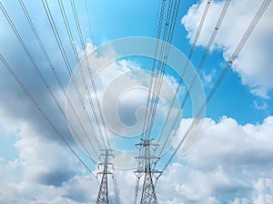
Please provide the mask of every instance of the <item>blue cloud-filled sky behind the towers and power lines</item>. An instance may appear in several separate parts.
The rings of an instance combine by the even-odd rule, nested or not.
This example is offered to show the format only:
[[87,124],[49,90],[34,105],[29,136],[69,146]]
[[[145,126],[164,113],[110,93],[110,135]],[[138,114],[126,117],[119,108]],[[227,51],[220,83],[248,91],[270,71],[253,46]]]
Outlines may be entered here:
[[[22,2],[48,58],[25,17]],[[134,157],[138,154],[135,144],[143,131],[154,52],[154,47],[149,44],[157,37],[161,1],[76,1],[83,41],[77,33],[70,2],[64,1],[73,44],[58,1],[48,1],[47,4],[60,41],[57,41],[58,37],[50,26],[42,2],[45,3],[0,0],[0,54],[40,107],[40,110],[35,107],[1,62],[0,204],[95,203],[98,184],[92,173],[96,175],[98,170],[92,160],[99,160],[99,149],[104,141],[97,139],[96,135],[104,125],[91,115],[90,121],[95,131],[87,128],[89,121],[80,99],[76,97],[73,77],[86,104],[91,98],[98,99],[102,105],[107,136],[115,149],[120,199],[122,203],[133,203],[136,184]],[[159,160],[158,170],[164,168],[177,143],[184,137],[196,116],[195,108],[206,100],[262,2],[257,0],[249,4],[248,0],[231,0],[207,59],[198,73],[194,85],[196,89],[193,89],[196,92],[190,92],[190,99],[180,110],[179,104],[187,93],[191,74],[196,72],[225,4],[223,0],[211,1],[190,58],[189,71],[182,77],[181,63],[187,62],[207,1],[181,1],[152,137],[158,138],[174,96],[177,101],[171,109],[168,129],[172,127],[175,113],[179,110],[182,112],[176,126],[169,130],[171,136],[167,141],[167,152]],[[6,15],[14,24],[16,34]],[[187,145],[183,144],[178,149],[157,181],[158,203],[273,203],[272,18],[273,5],[270,4],[207,103],[204,118],[193,131],[193,141],[189,140]],[[60,42],[66,57],[62,55]],[[85,54],[92,63],[93,77],[88,75],[85,62],[79,63]],[[85,82],[81,80],[82,67],[90,90],[89,98]],[[184,83],[175,94],[181,78]],[[90,83],[93,79],[96,92]],[[63,90],[60,84],[63,84]],[[81,129],[68,101],[76,107],[85,129]],[[45,120],[41,110],[51,124]],[[86,110],[92,112],[92,106],[86,105]],[[60,135],[92,173],[67,148]],[[167,135],[163,134],[163,139]],[[160,144],[162,147],[163,143]],[[92,145],[95,149],[92,149]],[[162,150],[161,147],[159,150]],[[110,197],[114,199],[112,181],[109,189]]]

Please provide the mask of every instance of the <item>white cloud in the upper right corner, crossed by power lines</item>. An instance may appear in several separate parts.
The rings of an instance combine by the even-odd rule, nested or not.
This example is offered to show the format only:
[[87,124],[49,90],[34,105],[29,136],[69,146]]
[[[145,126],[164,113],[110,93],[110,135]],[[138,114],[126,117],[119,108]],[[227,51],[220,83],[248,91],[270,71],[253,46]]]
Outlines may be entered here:
[[[239,40],[246,31],[248,24],[258,11],[261,0],[249,4],[248,0],[232,1],[227,10],[227,15],[221,25],[212,50],[220,50],[226,61],[236,49]],[[199,24],[199,18],[204,11],[207,1],[203,0],[197,5],[192,5],[181,23],[187,30],[187,37],[193,42]],[[209,7],[205,24],[202,28],[197,45],[206,46],[220,14],[224,1],[212,1]],[[233,64],[233,69],[239,73],[242,83],[248,84],[251,92],[262,98],[268,98],[268,91],[273,88],[273,52],[272,36],[273,24],[272,4],[262,16],[256,29],[248,39],[238,59]]]

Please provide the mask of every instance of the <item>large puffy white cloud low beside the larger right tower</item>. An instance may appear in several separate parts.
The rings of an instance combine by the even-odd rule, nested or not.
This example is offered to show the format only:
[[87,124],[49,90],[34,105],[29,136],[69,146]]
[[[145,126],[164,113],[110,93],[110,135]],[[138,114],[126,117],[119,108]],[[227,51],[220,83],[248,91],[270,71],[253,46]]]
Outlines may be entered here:
[[[181,121],[180,133],[188,121]],[[271,132],[272,116],[245,125],[227,117],[207,118],[196,148],[160,178],[160,199],[163,203],[271,203]]]

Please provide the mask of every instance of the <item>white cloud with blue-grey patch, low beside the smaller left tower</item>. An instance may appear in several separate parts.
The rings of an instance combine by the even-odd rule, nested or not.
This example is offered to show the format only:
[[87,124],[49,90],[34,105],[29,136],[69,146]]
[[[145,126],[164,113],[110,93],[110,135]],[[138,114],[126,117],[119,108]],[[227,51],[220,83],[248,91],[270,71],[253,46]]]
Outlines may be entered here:
[[66,147],[46,139],[28,123],[16,130],[19,156],[0,162],[0,203],[76,204],[94,199],[96,179],[83,174],[82,166]]

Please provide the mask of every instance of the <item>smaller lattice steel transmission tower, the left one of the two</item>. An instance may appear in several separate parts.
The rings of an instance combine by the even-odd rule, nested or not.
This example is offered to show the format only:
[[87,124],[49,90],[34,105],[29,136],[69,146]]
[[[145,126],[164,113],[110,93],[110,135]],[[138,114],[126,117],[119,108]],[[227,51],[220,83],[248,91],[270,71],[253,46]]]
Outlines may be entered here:
[[96,204],[108,204],[109,203],[109,194],[108,194],[108,174],[112,174],[109,169],[113,168],[113,159],[114,155],[111,153],[113,150],[104,149],[103,153],[100,154],[100,162],[98,164],[98,169],[103,167],[102,171],[99,171],[97,174],[102,175],[102,179],[99,185],[99,190],[96,198]]

